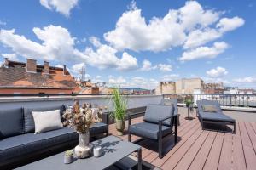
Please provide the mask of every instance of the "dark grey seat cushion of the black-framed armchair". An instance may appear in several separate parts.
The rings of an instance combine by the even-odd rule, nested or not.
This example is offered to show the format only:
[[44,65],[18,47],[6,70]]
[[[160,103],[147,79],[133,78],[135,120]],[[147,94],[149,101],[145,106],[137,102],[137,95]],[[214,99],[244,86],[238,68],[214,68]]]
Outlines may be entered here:
[[[129,132],[137,136],[148,138],[148,139],[158,139],[159,126],[154,123],[140,122],[133,124],[129,127]],[[171,133],[172,129],[170,127],[162,126],[162,134],[165,136],[167,133]]]

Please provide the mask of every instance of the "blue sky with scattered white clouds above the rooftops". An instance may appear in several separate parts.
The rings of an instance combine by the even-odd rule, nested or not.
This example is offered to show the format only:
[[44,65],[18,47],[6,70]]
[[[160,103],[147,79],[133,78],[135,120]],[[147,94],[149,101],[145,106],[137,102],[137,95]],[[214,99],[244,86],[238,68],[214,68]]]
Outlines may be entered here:
[[94,82],[154,88],[160,81],[256,88],[253,0],[1,1],[0,55],[86,65]]

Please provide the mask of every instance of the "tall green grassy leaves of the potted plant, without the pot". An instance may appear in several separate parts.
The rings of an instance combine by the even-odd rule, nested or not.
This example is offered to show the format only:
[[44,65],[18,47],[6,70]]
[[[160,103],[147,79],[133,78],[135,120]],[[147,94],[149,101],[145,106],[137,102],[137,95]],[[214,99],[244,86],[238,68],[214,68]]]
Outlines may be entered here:
[[110,113],[110,117],[115,120],[125,120],[126,109],[127,109],[127,99],[120,94],[119,88],[113,89],[113,94],[111,96],[113,101],[113,112]]

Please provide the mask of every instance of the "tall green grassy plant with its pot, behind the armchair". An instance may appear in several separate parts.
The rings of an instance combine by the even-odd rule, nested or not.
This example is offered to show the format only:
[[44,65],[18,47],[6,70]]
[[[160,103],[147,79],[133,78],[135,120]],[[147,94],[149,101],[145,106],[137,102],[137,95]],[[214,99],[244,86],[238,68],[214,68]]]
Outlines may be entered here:
[[125,129],[127,100],[120,94],[118,88],[113,89],[111,99],[113,101],[113,112],[110,113],[110,117],[115,121],[115,127],[118,131],[118,135],[121,136]]

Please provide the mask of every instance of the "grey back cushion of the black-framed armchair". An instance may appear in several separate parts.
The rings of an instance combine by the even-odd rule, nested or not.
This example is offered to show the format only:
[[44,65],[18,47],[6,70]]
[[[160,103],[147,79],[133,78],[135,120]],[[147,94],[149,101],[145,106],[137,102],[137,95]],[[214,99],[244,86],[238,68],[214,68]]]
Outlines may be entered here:
[[[143,120],[144,122],[158,124],[161,119],[166,118],[167,116],[173,116],[174,110],[175,108],[173,105],[147,105]],[[167,119],[163,122],[163,125],[171,126],[172,119]]]

